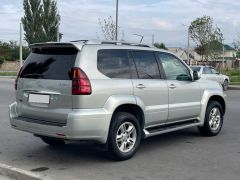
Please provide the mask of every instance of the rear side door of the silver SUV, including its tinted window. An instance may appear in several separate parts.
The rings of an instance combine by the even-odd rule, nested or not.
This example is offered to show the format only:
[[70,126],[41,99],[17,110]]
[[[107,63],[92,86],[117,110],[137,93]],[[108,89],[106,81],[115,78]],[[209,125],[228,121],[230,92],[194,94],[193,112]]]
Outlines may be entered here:
[[[168,88],[152,51],[131,51],[137,77],[133,78],[137,103],[145,106],[145,125],[165,124],[168,117]],[[134,69],[134,68],[133,68]]]

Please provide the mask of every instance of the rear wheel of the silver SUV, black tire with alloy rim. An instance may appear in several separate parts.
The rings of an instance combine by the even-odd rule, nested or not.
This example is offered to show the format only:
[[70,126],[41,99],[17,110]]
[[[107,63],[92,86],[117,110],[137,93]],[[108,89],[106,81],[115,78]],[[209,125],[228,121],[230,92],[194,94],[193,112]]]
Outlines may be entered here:
[[130,159],[141,141],[141,126],[138,119],[127,112],[113,115],[108,136],[108,153],[119,161]]

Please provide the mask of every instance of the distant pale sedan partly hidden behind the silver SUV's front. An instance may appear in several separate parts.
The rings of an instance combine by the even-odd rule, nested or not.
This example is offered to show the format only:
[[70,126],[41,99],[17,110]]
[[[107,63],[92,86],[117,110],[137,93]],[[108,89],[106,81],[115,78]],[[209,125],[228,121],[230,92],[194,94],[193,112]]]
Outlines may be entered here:
[[228,85],[230,83],[230,79],[228,76],[224,74],[220,74],[211,66],[191,66],[193,71],[198,71],[199,76],[203,79],[213,80],[219,82],[222,86],[224,91],[227,90]]

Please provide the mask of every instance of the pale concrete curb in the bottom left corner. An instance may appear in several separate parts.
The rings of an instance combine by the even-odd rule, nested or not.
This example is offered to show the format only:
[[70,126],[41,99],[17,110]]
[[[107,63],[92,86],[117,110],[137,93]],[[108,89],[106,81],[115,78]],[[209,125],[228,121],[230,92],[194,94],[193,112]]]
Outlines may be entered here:
[[0,175],[16,180],[47,180],[40,175],[5,164],[0,164]]

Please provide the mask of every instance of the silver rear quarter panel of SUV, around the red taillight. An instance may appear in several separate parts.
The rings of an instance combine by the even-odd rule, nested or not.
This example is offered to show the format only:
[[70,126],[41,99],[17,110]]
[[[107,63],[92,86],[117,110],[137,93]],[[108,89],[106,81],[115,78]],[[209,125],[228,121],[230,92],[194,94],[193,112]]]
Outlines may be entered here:
[[110,79],[98,71],[97,53],[104,48],[114,49],[107,45],[85,45],[76,60],[75,67],[80,67],[90,80],[92,94],[72,96],[74,109],[103,108],[112,95],[133,95],[131,79]]

